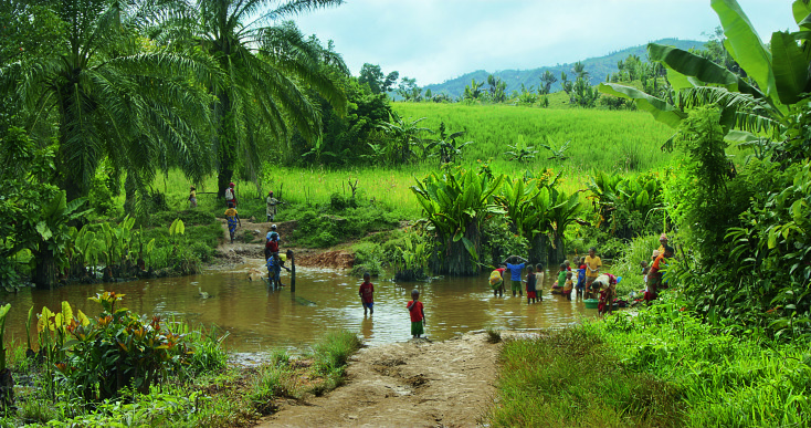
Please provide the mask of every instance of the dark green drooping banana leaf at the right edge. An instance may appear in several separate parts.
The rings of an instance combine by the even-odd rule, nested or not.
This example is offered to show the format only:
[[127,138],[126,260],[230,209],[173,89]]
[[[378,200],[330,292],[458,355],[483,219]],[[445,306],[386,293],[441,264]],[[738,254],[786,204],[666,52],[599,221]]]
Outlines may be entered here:
[[808,60],[794,38],[787,32],[771,34],[775,85],[780,102],[794,104],[809,83]]

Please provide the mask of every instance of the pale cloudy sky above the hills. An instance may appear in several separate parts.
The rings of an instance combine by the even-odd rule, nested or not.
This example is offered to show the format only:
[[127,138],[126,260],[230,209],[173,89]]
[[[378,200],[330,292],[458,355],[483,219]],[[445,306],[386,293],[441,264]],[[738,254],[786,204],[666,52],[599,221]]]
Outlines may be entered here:
[[[791,0],[738,0],[761,39],[796,30]],[[706,40],[709,0],[346,0],[296,19],[349,69],[379,64],[419,85],[474,70],[535,69],[663,38]]]

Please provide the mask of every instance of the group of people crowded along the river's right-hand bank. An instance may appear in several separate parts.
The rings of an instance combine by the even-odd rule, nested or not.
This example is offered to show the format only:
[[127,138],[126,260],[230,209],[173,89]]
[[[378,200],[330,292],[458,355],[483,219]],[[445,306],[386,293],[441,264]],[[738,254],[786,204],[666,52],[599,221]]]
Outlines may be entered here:
[[[640,264],[645,282],[645,290],[641,301],[650,302],[659,297],[659,291],[667,288],[666,281],[663,281],[662,271],[664,270],[667,259],[672,258],[674,250],[667,244],[667,236],[662,233],[660,237],[660,248],[653,251],[652,262],[643,260]],[[571,300],[572,292],[575,300],[592,300],[598,301],[597,310],[599,315],[610,313],[614,307],[626,304],[626,302],[618,299],[617,284],[622,280],[608,272],[601,272],[602,260],[597,255],[597,248],[592,247],[586,257],[576,259],[577,267],[572,270],[569,260],[564,261],[558,267],[557,281],[551,286],[552,294],[560,294],[567,300]],[[526,270],[526,276],[524,271]],[[494,296],[504,296],[509,274],[509,289],[513,296],[524,296],[527,293],[527,304],[534,304],[544,301],[543,285],[545,281],[544,265],[530,264],[527,259],[519,255],[509,255],[497,269],[494,269],[489,275],[489,285]]]

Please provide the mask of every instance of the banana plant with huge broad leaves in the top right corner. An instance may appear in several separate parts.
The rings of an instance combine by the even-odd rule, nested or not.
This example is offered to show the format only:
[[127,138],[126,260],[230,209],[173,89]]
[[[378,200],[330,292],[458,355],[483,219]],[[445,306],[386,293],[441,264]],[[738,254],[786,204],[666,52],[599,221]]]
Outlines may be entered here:
[[736,0],[712,0],[710,4],[727,38],[725,46],[754,84],[691,52],[651,43],[649,58],[667,67],[668,81],[677,92],[675,105],[612,83],[600,84],[600,91],[634,100],[640,109],[674,128],[687,117],[685,108],[714,104],[723,111],[727,139],[750,142],[758,133],[767,133],[775,140],[784,139],[784,118],[790,106],[811,92],[811,3],[793,2],[800,31],[775,32],[769,46]]

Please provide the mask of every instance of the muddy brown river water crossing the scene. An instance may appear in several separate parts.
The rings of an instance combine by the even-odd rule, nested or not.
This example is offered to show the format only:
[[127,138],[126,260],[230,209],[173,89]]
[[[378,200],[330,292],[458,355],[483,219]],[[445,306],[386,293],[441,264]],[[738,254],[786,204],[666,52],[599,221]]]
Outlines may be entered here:
[[[25,342],[25,319],[31,305],[36,313],[42,306],[61,311],[61,302],[69,301],[74,311],[81,309],[88,316],[96,315],[101,306],[87,297],[105,290],[126,294],[124,306],[138,313],[181,317],[192,325],[217,325],[221,332],[230,333],[225,340],[228,349],[240,353],[306,346],[330,328],[358,332],[368,344],[406,341],[410,338],[406,303],[413,289],[420,290],[420,300],[425,305],[425,335],[434,341],[489,326],[562,326],[597,314],[597,310],[587,310],[582,302],[551,295],[549,281],[544,285],[543,303],[528,305],[526,297],[513,297],[512,293],[494,297],[487,275],[483,274],[420,283],[372,279],[375,315],[364,317],[358,296],[360,278],[341,271],[298,268],[296,293],[291,293],[288,286],[271,290],[265,282],[249,281],[251,268],[260,268],[259,261],[229,271],[209,270],[183,278],[75,284],[52,291],[25,289],[4,297],[11,303],[6,340]],[[547,278],[550,276],[547,272]],[[286,272],[283,281],[289,284]],[[199,290],[211,297],[201,299]]]

